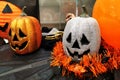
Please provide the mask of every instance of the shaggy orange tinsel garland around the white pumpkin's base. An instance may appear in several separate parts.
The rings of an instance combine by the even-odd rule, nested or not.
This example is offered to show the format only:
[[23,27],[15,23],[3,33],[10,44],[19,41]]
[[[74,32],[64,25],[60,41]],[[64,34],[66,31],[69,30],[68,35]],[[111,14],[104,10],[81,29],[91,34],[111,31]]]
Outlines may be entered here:
[[[51,66],[62,67],[62,74],[73,72],[78,77],[83,77],[86,72],[92,72],[93,76],[105,73],[108,70],[120,68],[119,51],[111,52],[109,49],[105,55],[94,53],[94,55],[84,55],[79,63],[72,63],[72,59],[68,57],[64,50],[62,42],[57,42],[53,52]],[[102,62],[104,57],[109,58],[106,62]]]

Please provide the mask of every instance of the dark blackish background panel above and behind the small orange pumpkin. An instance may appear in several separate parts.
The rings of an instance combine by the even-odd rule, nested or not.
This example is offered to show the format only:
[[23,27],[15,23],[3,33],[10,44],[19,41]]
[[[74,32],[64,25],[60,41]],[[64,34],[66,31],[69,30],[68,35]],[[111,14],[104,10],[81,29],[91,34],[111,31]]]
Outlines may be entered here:
[[25,13],[39,20],[39,0],[6,0],[20,9],[26,6]]

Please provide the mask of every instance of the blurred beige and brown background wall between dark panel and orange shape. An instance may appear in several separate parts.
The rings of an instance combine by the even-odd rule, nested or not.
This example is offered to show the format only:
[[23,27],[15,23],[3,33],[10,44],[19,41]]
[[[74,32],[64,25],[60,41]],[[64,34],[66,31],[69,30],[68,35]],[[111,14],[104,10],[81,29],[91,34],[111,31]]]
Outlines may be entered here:
[[[86,5],[88,14],[91,16],[95,0],[39,0],[39,14],[42,27],[65,27],[65,15],[78,12],[81,14],[82,5]],[[76,11],[78,9],[78,11]]]

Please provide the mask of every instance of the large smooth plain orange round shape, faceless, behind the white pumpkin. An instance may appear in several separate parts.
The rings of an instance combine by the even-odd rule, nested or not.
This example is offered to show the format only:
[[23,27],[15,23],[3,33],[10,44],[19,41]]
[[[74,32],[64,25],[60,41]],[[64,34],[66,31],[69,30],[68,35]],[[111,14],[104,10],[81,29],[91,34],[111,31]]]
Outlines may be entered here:
[[120,0],[96,0],[93,17],[97,19],[102,38],[120,49]]

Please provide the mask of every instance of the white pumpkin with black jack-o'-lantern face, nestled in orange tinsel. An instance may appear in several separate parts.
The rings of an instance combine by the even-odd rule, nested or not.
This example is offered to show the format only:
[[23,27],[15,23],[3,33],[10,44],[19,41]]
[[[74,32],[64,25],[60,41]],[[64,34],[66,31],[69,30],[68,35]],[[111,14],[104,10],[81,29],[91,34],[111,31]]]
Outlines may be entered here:
[[101,35],[98,22],[92,17],[75,17],[69,20],[63,34],[63,49],[73,59],[97,53]]

